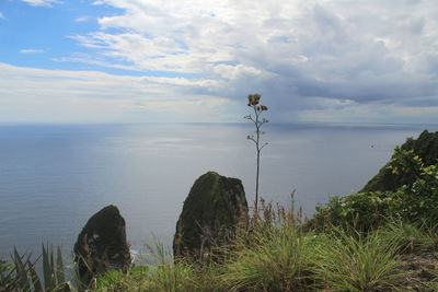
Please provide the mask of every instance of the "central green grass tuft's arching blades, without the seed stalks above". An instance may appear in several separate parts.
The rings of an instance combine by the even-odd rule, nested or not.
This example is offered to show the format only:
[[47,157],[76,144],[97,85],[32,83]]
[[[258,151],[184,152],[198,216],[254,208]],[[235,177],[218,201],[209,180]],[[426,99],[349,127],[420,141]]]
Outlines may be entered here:
[[252,242],[230,252],[220,279],[233,291],[307,290],[314,278],[314,242],[300,229],[255,232]]

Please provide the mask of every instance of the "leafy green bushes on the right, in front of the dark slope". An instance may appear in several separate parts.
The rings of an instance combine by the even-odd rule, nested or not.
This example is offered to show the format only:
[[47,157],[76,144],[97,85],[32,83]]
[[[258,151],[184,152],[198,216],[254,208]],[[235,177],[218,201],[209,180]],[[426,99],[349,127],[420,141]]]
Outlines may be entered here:
[[412,150],[395,149],[387,165],[403,182],[412,182],[395,191],[357,192],[333,197],[323,207],[316,207],[312,224],[319,229],[343,226],[372,230],[389,218],[405,222],[435,222],[438,220],[438,168],[424,166]]

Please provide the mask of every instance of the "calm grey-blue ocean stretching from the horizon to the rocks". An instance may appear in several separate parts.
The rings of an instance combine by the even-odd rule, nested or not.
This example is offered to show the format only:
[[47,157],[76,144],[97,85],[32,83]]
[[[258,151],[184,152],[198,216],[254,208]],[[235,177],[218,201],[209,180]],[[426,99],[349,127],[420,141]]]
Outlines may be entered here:
[[[311,214],[331,196],[360,189],[396,144],[437,126],[266,125],[261,195]],[[254,199],[255,149],[246,124],[0,126],[0,257],[71,250],[87,220],[116,205],[134,249],[171,245],[195,179],[207,171],[242,179]]]

